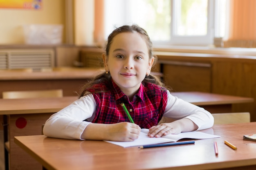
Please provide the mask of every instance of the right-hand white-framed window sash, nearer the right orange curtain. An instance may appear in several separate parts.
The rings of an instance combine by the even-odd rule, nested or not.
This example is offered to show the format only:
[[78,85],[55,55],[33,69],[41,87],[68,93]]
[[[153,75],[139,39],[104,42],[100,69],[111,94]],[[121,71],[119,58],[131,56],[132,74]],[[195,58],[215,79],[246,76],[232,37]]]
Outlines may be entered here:
[[208,45],[213,40],[213,1],[172,1],[171,44]]

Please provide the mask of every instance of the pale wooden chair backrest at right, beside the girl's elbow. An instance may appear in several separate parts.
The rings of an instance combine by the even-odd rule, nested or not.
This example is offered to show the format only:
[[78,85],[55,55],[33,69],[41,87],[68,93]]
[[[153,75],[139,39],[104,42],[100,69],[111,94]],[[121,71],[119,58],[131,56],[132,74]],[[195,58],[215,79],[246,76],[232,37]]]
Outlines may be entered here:
[[235,124],[250,122],[250,113],[212,113],[214,124]]

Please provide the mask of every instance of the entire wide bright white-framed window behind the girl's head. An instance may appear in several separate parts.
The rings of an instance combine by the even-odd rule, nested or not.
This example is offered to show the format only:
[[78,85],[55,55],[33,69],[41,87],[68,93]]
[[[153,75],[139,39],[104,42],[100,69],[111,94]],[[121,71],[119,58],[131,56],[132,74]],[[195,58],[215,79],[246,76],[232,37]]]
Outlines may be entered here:
[[154,44],[209,45],[225,32],[226,0],[105,0],[105,35],[138,24]]

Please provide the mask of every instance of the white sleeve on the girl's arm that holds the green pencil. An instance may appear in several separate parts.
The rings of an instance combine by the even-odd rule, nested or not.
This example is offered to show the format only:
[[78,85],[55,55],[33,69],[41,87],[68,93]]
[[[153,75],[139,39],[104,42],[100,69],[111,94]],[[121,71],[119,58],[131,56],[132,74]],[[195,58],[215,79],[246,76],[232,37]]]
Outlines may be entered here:
[[[94,118],[95,110],[96,102],[93,95],[85,95],[49,117],[43,133],[48,137],[81,139],[83,130]],[[84,121],[85,119],[89,121]]]

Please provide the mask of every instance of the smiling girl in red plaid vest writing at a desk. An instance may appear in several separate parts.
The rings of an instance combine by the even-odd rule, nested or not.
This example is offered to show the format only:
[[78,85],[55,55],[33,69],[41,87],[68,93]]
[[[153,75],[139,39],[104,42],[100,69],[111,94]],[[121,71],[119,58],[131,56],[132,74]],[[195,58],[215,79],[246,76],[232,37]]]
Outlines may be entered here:
[[[213,126],[207,110],[172,96],[159,78],[150,75],[155,57],[152,42],[141,27],[115,29],[102,57],[106,73],[85,84],[77,101],[46,121],[46,136],[133,141],[141,128],[149,129],[149,137],[161,137]],[[175,121],[158,124],[163,116]]]

